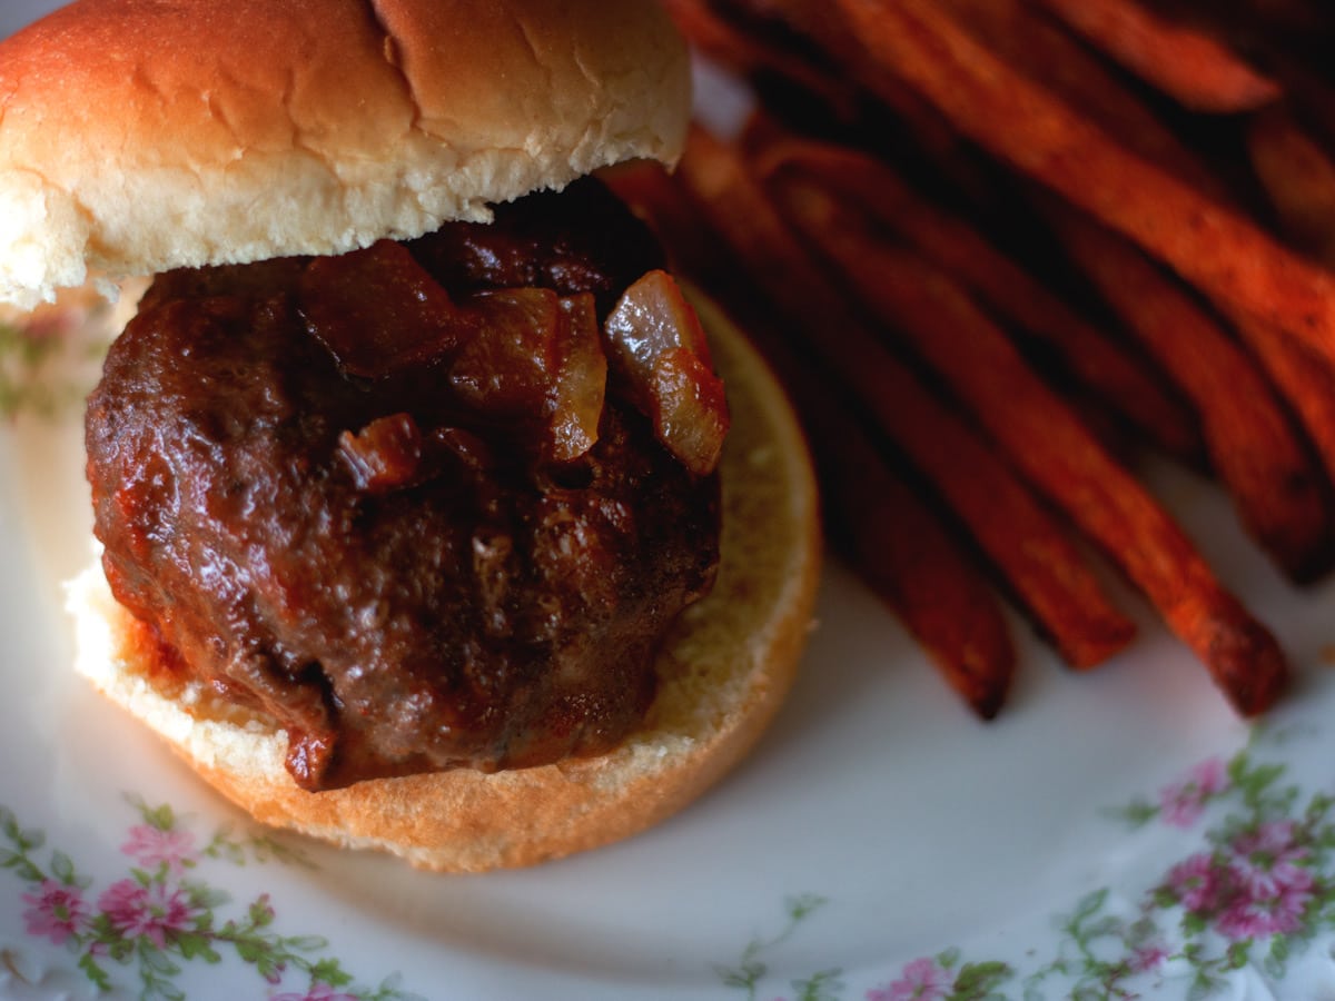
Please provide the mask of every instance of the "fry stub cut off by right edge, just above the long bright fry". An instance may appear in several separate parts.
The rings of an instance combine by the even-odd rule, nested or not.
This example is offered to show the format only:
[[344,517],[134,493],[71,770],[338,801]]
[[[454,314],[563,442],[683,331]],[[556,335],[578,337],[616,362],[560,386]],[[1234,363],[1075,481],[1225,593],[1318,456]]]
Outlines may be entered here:
[[1288,238],[1335,266],[1335,161],[1282,107],[1251,117],[1247,149]]

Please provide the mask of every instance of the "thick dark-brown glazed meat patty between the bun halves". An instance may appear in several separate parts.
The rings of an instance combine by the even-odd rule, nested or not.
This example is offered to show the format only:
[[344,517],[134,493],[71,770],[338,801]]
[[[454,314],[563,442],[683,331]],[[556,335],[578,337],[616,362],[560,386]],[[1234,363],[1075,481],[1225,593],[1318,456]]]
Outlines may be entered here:
[[411,244],[160,276],[87,414],[115,597],[288,730],[306,789],[610,749],[718,559],[717,476],[614,367],[599,396],[602,319],[655,266],[582,182]]

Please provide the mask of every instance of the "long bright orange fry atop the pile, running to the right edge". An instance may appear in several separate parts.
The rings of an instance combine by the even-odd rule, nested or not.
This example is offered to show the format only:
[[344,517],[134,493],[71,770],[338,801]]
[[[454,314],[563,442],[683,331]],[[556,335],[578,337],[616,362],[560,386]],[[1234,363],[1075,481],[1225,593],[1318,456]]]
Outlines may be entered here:
[[837,0],[862,43],[959,128],[1165,262],[1222,307],[1335,359],[1335,276],[1108,139],[929,0]]

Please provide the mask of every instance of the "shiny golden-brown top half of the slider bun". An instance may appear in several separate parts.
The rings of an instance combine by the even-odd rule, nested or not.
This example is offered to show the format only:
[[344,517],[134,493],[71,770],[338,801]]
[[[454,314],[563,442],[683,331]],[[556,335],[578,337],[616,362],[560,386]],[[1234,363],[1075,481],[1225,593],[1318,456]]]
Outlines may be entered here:
[[486,219],[689,105],[653,0],[79,0],[0,43],[0,299]]

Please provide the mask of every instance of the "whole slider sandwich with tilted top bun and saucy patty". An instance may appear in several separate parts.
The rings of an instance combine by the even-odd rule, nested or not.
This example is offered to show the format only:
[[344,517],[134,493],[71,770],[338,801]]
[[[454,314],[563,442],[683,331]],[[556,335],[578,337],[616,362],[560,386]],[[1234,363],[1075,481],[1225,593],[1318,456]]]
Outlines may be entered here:
[[689,109],[641,0],[80,0],[0,43],[0,298],[151,276],[87,408],[77,667],[258,819],[531,865],[773,718],[804,440],[593,176]]

